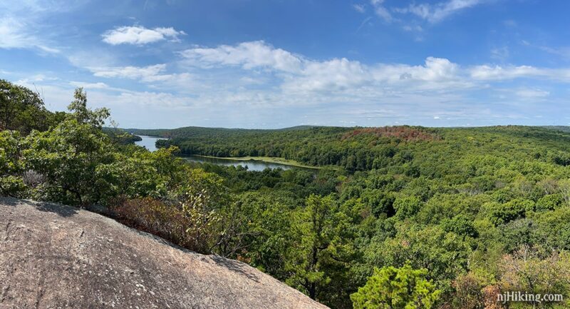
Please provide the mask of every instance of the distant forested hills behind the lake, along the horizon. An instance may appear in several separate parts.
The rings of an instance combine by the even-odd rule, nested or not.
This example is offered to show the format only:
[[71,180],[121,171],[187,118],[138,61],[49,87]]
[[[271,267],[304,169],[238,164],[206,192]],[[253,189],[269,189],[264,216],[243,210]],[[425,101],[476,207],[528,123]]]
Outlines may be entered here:
[[[475,153],[481,156],[494,153],[497,158],[516,156],[561,165],[566,165],[570,159],[566,157],[570,136],[541,127],[301,127],[281,130],[189,127],[128,131],[170,138],[159,141],[158,146],[177,146],[187,155],[280,157],[314,166],[342,166],[347,171],[370,171],[404,163],[420,168],[420,162],[440,164],[447,158],[457,160]],[[417,164],[413,163],[413,156],[418,156]],[[434,171],[424,174],[429,173]]]

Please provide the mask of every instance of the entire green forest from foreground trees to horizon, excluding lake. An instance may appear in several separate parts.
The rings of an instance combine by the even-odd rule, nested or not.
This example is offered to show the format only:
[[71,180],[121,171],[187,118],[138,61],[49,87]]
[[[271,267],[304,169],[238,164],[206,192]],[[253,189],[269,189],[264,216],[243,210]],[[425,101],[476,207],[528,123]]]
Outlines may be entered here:
[[[570,133],[529,126],[113,131],[102,128],[109,111],[88,108],[82,89],[70,111],[56,115],[33,92],[1,85],[10,115],[31,115],[0,115],[7,119],[1,195],[102,206],[177,245],[249,263],[331,308],[570,305]],[[36,113],[51,120],[38,125]],[[170,139],[151,153],[125,132]],[[180,153],[324,168],[247,171],[187,163]],[[564,301],[497,302],[507,291]]]

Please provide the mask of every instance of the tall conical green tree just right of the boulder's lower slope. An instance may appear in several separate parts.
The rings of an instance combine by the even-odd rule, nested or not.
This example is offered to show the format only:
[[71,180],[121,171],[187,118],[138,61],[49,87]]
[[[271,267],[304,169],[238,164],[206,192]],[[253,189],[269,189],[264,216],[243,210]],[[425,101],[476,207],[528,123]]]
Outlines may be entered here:
[[286,283],[325,303],[332,295],[350,290],[342,285],[350,281],[351,261],[358,252],[351,240],[351,219],[339,211],[335,198],[309,196],[292,228],[296,243],[289,253],[286,269],[291,275]]

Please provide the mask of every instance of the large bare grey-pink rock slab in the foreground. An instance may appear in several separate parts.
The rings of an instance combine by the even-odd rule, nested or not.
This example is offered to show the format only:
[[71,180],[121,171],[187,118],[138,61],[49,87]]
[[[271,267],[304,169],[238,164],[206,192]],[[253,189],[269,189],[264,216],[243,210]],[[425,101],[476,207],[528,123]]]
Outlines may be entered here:
[[69,206],[0,198],[0,308],[326,308],[236,260]]

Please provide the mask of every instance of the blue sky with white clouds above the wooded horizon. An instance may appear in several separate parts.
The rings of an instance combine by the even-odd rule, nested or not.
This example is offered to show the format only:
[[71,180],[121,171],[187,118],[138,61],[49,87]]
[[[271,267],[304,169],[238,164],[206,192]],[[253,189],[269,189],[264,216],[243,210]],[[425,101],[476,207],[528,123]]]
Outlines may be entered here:
[[0,78],[123,128],[570,124],[566,0],[0,0]]

